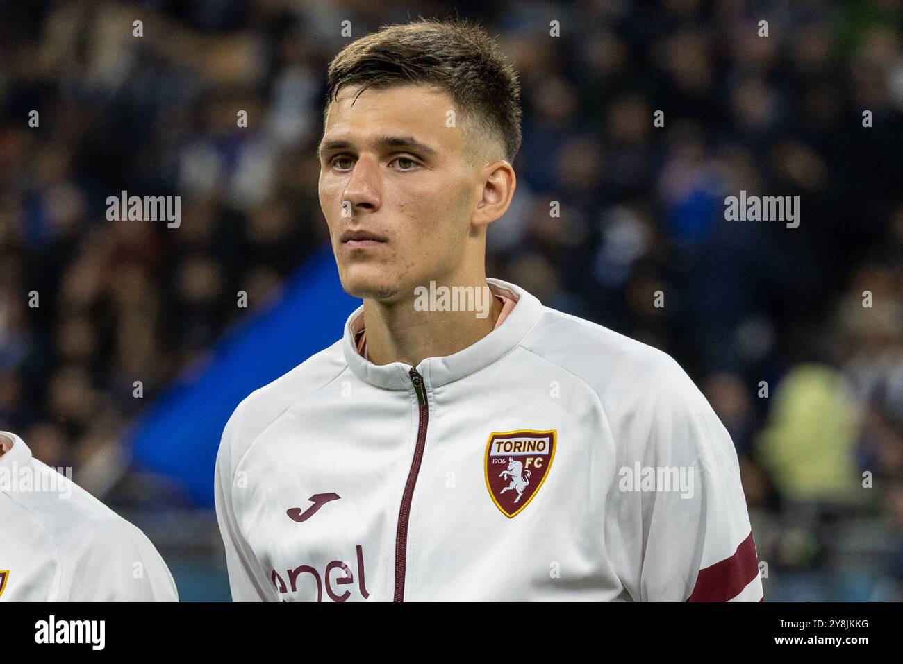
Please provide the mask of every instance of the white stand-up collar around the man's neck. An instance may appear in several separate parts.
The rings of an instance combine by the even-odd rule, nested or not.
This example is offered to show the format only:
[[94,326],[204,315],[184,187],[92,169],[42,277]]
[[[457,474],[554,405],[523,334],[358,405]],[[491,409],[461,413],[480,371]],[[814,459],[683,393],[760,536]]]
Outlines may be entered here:
[[[424,377],[427,387],[435,388],[452,383],[497,362],[520,344],[542,315],[542,303],[524,289],[500,279],[487,278],[486,281],[491,291],[514,298],[517,305],[500,326],[477,343],[452,355],[427,357],[418,364],[417,372]],[[386,390],[410,390],[411,377],[408,375],[410,364],[403,362],[373,364],[358,354],[355,334],[363,325],[363,319],[364,307],[361,305],[345,323],[342,352],[349,368],[365,383]]]

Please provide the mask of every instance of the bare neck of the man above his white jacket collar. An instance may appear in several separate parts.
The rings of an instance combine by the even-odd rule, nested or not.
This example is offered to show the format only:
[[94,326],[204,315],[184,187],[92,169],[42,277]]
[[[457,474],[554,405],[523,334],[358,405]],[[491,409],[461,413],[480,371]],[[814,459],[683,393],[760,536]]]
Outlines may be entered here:
[[[404,362],[420,364],[426,357],[443,357],[472,346],[495,327],[502,304],[489,290],[486,279],[469,284],[475,295],[489,293],[489,315],[478,318],[478,311],[419,311],[414,294],[386,304],[364,300],[364,328],[367,330],[367,355],[373,364]],[[437,283],[437,288],[445,284]],[[461,284],[457,284],[461,285]],[[476,292],[479,289],[479,293]],[[477,300],[482,302],[482,300]],[[486,307],[486,304],[482,304]],[[485,310],[485,309],[484,309]]]

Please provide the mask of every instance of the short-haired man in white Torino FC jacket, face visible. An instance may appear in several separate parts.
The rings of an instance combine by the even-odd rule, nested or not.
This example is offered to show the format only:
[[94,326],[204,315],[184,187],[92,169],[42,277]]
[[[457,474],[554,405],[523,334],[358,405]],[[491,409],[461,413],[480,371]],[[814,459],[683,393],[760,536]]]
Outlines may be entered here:
[[488,36],[391,26],[328,78],[320,201],[364,302],[228,420],[233,598],[758,602],[737,455],[680,366],[485,276],[520,143]]

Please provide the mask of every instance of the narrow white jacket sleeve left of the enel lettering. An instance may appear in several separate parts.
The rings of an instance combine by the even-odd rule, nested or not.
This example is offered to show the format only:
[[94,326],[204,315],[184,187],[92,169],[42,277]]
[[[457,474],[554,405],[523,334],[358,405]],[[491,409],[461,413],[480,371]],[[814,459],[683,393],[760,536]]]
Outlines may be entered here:
[[236,512],[236,493],[242,491],[242,485],[236,482],[233,450],[236,449],[239,437],[244,404],[242,401],[238,405],[223,430],[214,471],[213,496],[219,532],[226,547],[226,565],[232,601],[265,602],[275,600],[275,594],[269,591],[264,570],[238,527],[239,515]]

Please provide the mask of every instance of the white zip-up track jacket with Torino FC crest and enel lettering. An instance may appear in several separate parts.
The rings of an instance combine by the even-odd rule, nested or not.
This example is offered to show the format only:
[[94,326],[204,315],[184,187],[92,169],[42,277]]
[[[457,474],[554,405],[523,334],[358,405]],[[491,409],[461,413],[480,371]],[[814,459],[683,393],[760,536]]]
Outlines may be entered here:
[[236,601],[750,601],[728,432],[669,355],[517,300],[416,367],[332,346],[228,420],[216,508]]

